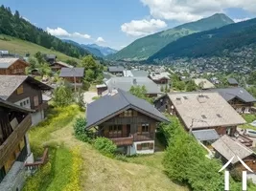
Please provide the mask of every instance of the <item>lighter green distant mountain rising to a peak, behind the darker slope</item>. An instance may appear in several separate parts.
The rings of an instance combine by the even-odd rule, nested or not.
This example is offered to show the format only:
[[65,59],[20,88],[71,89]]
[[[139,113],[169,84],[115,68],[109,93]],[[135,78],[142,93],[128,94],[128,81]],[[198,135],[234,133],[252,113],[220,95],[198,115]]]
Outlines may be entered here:
[[198,20],[196,22],[187,23],[175,27],[164,32],[157,32],[132,42],[123,50],[108,56],[109,59],[127,59],[127,60],[144,60],[153,53],[157,53],[169,43],[180,37],[195,33],[207,31],[215,28],[234,23],[225,14],[214,14],[210,17]]

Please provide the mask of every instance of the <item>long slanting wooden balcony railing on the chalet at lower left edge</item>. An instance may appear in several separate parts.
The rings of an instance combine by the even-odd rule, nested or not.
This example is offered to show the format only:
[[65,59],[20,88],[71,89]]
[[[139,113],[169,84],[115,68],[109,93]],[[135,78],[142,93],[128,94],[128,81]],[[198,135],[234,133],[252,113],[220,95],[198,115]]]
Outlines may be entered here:
[[11,136],[0,145],[0,166],[8,160],[9,156],[14,152],[21,139],[24,138],[31,125],[31,115],[28,115],[13,130]]

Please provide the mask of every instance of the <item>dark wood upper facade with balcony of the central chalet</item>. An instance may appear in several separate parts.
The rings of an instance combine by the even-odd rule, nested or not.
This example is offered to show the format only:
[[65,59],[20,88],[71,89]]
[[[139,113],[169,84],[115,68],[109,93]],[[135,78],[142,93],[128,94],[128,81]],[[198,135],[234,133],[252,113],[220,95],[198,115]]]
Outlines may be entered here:
[[99,125],[98,136],[110,138],[117,145],[154,140],[156,122],[154,118],[129,109]]

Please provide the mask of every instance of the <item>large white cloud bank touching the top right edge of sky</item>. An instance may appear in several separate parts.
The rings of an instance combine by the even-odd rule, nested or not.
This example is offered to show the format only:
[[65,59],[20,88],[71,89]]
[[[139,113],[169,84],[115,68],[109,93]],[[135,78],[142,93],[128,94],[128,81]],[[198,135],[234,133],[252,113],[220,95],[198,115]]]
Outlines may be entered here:
[[159,19],[189,22],[228,8],[256,12],[255,0],[140,0]]

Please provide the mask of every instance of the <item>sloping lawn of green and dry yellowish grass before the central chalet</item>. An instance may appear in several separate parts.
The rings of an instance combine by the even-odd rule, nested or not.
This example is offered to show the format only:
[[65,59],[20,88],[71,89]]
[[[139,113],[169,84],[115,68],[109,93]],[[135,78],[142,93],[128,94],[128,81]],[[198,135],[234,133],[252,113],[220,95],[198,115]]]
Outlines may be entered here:
[[[53,122],[46,123],[44,130],[35,129],[31,132],[32,144],[42,141],[41,145],[58,145],[50,161],[52,163],[50,178],[40,186],[39,191],[66,190],[75,175],[81,176],[79,184],[81,190],[84,191],[189,190],[187,187],[175,184],[165,175],[161,164],[163,152],[128,158],[128,162],[107,158],[90,144],[74,138],[73,121],[84,114],[73,111],[75,115],[70,117],[70,113],[64,113],[56,116],[58,120],[52,119]],[[64,117],[69,119],[64,119]],[[34,135],[35,138],[33,138]],[[39,137],[39,135],[46,138]],[[80,148],[80,171],[74,171],[72,167],[74,163],[72,151],[75,147]],[[73,187],[73,190],[80,189]]]

